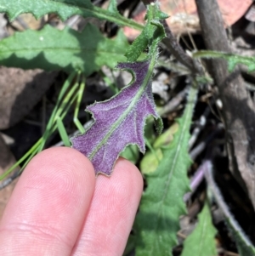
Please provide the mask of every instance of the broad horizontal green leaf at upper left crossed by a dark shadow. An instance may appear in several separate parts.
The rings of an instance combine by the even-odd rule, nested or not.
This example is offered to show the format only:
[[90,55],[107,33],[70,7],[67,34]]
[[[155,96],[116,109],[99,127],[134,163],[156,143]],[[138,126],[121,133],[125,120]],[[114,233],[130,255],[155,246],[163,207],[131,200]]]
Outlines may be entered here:
[[0,41],[0,64],[45,71],[81,70],[88,76],[102,65],[114,68],[118,61],[124,61],[127,47],[122,33],[110,40],[90,24],[82,33],[45,26],[41,31],[17,32]]

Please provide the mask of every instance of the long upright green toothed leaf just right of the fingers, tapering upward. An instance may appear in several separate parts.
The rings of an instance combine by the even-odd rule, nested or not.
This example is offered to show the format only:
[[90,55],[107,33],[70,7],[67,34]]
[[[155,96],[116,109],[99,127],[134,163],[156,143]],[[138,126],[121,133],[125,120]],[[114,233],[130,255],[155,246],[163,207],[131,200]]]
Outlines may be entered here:
[[179,216],[186,212],[183,196],[190,191],[188,143],[196,94],[197,89],[190,88],[184,115],[178,120],[178,132],[171,145],[163,150],[156,172],[146,179],[148,187],[134,226],[137,256],[173,255],[172,248],[177,245]]

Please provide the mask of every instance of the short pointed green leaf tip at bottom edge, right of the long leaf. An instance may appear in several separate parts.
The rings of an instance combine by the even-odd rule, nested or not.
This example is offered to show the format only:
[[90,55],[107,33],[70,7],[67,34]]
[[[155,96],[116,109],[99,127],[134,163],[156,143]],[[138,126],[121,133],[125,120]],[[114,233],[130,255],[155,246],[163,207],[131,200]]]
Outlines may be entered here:
[[184,241],[184,250],[181,256],[216,256],[214,236],[217,230],[212,225],[212,217],[208,203],[204,205],[198,215],[198,224],[195,230]]

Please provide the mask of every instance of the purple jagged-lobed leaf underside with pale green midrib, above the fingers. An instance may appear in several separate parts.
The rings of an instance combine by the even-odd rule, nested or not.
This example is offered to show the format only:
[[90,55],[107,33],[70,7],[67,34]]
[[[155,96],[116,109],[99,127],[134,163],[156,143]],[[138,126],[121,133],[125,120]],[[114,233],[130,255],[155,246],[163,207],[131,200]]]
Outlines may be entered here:
[[88,156],[96,174],[111,175],[117,157],[127,145],[136,144],[144,153],[144,122],[156,113],[151,92],[154,61],[120,63],[118,68],[131,71],[133,83],[105,102],[89,105],[94,124],[85,134],[71,138],[72,147]]

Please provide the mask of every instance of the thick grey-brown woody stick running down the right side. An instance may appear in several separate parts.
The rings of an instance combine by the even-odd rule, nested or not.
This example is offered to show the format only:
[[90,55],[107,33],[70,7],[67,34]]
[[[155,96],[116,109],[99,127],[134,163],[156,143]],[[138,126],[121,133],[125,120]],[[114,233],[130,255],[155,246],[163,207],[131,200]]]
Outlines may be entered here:
[[[216,0],[195,0],[201,31],[208,49],[229,53],[224,21]],[[209,71],[223,103],[229,165],[235,179],[250,196],[255,208],[255,111],[250,95],[236,69],[229,74],[225,60],[210,60]]]

